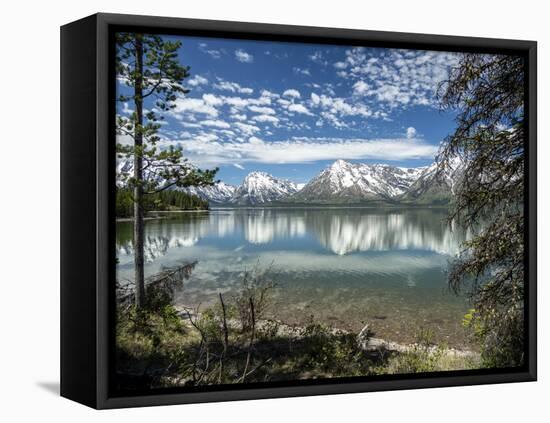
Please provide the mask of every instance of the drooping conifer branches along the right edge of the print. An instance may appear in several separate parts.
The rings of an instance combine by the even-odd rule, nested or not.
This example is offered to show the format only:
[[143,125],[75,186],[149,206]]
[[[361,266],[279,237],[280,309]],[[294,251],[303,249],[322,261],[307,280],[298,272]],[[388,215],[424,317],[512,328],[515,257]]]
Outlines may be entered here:
[[440,87],[442,105],[458,110],[440,171],[456,157],[465,164],[450,218],[476,234],[449,283],[456,291],[472,284],[472,325],[497,367],[523,363],[524,73],[518,56],[465,54]]

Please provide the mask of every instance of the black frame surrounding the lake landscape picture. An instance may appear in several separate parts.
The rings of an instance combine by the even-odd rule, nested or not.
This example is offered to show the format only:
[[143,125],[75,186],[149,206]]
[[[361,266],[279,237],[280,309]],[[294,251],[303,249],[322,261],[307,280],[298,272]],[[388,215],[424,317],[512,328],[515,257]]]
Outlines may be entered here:
[[[526,360],[521,368],[235,385],[117,396],[111,372],[114,269],[113,33],[521,55],[526,60]],[[61,28],[61,395],[97,409],[534,381],[537,44],[488,38],[95,14]]]

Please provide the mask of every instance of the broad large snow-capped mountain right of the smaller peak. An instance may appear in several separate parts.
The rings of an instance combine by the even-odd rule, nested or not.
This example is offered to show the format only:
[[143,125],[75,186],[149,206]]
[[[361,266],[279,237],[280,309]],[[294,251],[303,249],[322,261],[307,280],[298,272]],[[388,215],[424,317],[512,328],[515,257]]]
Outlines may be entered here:
[[387,200],[403,195],[426,171],[337,160],[293,197],[301,201]]

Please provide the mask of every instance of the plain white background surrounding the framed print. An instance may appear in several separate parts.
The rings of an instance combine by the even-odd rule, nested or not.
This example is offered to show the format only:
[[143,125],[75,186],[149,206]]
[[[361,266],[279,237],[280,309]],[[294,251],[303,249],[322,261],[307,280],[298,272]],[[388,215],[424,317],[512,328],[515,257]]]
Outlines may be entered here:
[[[539,240],[550,237],[550,31],[540,0],[11,0],[0,23],[0,420],[543,421],[549,248],[539,242],[539,382],[97,412],[59,381],[59,26],[103,12],[539,42]],[[546,394],[545,391],[546,390]],[[538,416],[538,417],[537,417]]]

